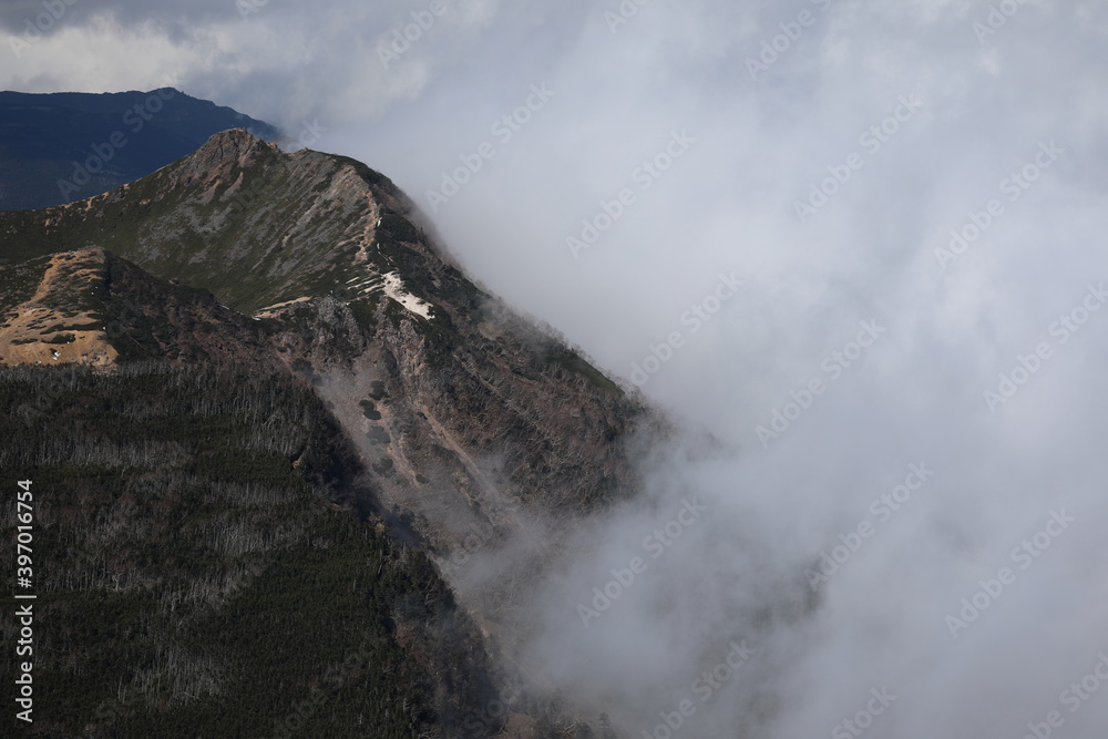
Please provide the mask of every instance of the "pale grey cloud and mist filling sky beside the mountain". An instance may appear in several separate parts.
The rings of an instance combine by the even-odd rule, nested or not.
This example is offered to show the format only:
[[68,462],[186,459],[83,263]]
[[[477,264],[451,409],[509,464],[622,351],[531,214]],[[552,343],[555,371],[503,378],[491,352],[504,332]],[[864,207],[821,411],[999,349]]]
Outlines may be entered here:
[[530,658],[583,704],[659,739],[684,699],[675,736],[1104,736],[1108,4],[50,4],[0,9],[0,88],[311,129],[719,440],[541,601]]

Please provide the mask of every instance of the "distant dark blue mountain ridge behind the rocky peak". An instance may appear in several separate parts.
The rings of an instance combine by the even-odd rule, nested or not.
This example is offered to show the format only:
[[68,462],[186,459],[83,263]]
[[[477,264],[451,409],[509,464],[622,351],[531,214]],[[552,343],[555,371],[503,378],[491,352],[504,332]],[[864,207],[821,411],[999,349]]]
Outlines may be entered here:
[[213,134],[277,127],[174,88],[148,92],[0,92],[0,211],[62,205],[144,177]]

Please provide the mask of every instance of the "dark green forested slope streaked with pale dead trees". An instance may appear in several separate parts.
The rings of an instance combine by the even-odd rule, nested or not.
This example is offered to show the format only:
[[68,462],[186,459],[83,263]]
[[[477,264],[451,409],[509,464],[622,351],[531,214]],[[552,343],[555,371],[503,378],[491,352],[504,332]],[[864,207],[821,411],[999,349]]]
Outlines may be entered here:
[[[34,481],[33,736],[417,737],[490,699],[473,628],[295,378],[0,370],[0,438],[8,484]],[[3,634],[13,675],[11,609]]]

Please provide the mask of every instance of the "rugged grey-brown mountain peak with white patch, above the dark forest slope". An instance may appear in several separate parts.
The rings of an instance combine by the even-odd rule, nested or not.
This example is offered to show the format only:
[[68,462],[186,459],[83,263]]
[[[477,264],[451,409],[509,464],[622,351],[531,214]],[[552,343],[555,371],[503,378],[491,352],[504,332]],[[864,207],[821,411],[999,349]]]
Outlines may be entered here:
[[[27,260],[73,249],[137,265],[117,259],[133,285],[109,280],[110,291],[158,286],[132,311],[151,318],[147,308],[164,304],[167,326],[147,348],[178,361],[280,363],[309,378],[360,451],[376,499],[440,564],[495,548],[525,521],[556,530],[629,494],[636,432],[664,429],[577,352],[466,279],[410,201],[351,160],[285,154],[228,131],[111,193],[0,214],[0,253]],[[184,288],[165,279],[215,298],[172,297]],[[150,335],[141,328],[132,333]],[[102,363],[126,352],[122,337],[94,340]],[[515,576],[538,566],[542,552],[529,554],[510,563]],[[461,595],[490,627],[476,594]]]

